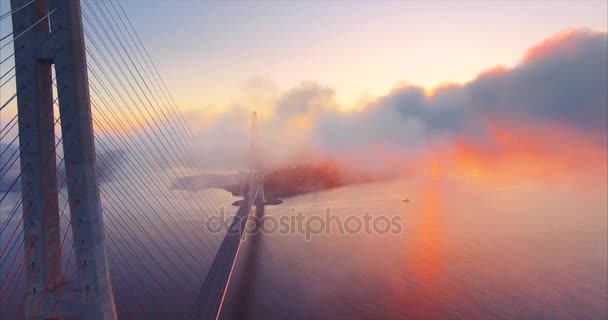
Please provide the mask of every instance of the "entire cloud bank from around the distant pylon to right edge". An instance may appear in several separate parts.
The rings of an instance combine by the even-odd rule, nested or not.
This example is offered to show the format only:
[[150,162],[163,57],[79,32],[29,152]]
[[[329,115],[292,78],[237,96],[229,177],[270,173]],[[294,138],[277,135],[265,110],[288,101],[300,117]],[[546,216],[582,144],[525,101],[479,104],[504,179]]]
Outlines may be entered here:
[[[271,159],[302,157],[306,151],[378,167],[414,163],[415,157],[427,161],[433,153],[456,161],[463,152],[479,158],[480,165],[497,163],[486,161],[490,157],[525,162],[534,152],[560,161],[570,159],[561,153],[577,152],[575,141],[584,142],[581,150],[587,155],[605,155],[607,45],[606,33],[560,32],[529,49],[512,68],[492,68],[468,83],[435,88],[432,94],[401,85],[350,112],[339,108],[332,88],[303,82],[283,93],[273,91],[275,97],[261,107],[262,148]],[[248,141],[249,112],[243,105],[202,128],[201,139],[215,150],[220,147],[214,142]],[[497,127],[512,132],[512,139],[526,140],[526,152],[516,150],[518,143],[505,144]],[[219,129],[222,137],[209,139]],[[547,144],[554,146],[548,149]],[[590,146],[600,152],[588,151]],[[536,160],[545,158],[533,159],[542,165]]]

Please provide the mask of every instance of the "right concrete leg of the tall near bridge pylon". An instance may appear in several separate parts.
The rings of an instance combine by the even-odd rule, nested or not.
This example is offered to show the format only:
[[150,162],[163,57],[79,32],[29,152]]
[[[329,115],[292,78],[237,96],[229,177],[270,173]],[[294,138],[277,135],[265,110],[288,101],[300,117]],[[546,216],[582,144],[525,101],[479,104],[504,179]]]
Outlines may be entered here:
[[67,187],[75,239],[80,319],[116,319],[95,173],[95,144],[80,0],[49,0]]

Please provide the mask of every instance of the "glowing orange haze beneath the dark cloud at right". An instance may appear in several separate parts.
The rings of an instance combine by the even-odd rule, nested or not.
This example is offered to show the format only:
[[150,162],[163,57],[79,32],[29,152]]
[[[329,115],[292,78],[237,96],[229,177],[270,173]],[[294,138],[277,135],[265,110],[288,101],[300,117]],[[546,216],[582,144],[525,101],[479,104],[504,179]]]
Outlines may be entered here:
[[485,182],[606,182],[608,150],[588,136],[557,126],[500,122],[491,123],[489,131],[489,145],[460,140],[437,148],[430,164],[435,168],[427,171]]

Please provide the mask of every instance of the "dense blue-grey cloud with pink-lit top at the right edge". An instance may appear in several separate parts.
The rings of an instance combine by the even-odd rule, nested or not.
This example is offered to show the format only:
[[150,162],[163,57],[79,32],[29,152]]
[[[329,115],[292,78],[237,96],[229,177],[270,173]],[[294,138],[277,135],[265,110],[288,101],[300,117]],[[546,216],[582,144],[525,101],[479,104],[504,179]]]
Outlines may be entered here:
[[559,33],[530,49],[515,68],[467,84],[471,107],[485,117],[568,126],[605,144],[607,46],[605,33]]

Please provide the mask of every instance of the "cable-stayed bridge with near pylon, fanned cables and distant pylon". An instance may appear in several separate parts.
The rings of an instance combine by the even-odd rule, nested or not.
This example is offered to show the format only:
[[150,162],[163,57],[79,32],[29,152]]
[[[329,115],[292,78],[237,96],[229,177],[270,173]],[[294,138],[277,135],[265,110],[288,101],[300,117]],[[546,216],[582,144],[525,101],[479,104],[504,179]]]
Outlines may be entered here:
[[207,169],[120,1],[0,8],[0,319],[216,319],[245,223],[266,199],[255,156],[229,229]]

